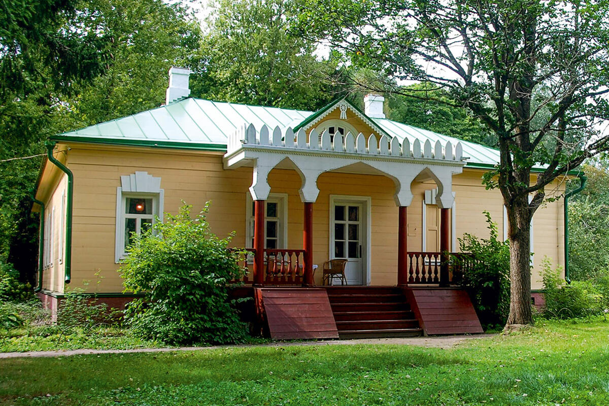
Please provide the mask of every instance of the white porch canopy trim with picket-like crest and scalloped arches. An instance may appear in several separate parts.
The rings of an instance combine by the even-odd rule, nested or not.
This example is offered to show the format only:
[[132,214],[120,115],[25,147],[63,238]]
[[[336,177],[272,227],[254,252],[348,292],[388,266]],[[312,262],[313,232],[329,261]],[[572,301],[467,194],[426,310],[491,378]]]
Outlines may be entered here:
[[[344,140],[344,141],[343,141]],[[407,138],[390,139],[386,135],[378,140],[359,133],[347,133],[343,138],[334,133],[330,141],[328,130],[320,137],[313,128],[307,142],[306,131],[301,128],[294,133],[291,127],[275,127],[270,131],[263,125],[259,131],[250,124],[235,131],[228,138],[227,153],[224,155],[225,169],[253,166],[250,194],[253,200],[266,200],[270,193],[268,175],[273,168],[289,159],[301,177],[300,198],[315,201],[319,195],[317,178],[324,172],[337,170],[351,164],[364,163],[384,173],[395,183],[395,201],[399,206],[409,206],[412,202],[410,185],[420,173],[426,173],[438,185],[438,206],[450,208],[452,196],[452,175],[461,173],[465,166],[461,144],[452,149],[451,142],[442,145],[416,139],[410,147]]]

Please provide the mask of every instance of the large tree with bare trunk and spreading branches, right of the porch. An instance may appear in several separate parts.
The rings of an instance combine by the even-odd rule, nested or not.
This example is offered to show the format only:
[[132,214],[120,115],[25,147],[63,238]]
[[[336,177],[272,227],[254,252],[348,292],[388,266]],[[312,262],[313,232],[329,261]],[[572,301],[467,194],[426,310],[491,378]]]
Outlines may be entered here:
[[392,80],[445,89],[495,134],[501,163],[484,181],[501,190],[509,219],[507,327],[532,323],[532,216],[549,184],[609,146],[594,125],[609,110],[608,2],[302,1],[301,35]]

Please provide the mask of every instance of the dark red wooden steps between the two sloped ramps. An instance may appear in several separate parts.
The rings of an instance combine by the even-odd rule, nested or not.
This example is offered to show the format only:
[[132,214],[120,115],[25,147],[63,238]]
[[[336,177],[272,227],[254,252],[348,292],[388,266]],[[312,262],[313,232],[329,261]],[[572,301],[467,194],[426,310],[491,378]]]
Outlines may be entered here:
[[340,338],[422,334],[406,296],[396,287],[331,286],[328,299]]

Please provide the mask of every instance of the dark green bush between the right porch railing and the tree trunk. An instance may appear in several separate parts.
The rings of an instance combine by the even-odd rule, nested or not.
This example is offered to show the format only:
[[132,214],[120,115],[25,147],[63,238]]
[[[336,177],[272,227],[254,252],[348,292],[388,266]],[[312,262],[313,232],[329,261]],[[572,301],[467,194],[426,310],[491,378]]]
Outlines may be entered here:
[[459,245],[469,257],[453,255],[452,262],[461,265],[462,286],[471,300],[482,326],[487,329],[503,326],[510,312],[510,248],[507,242],[498,240],[497,224],[487,218],[490,237],[480,239],[472,234],[463,234]]

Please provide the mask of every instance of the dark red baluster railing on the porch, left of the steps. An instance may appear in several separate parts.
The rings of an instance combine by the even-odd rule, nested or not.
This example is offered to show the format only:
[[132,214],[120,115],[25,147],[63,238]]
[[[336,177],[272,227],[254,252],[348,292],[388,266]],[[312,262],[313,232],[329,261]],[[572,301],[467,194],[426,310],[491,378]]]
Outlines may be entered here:
[[[239,256],[239,267],[244,270],[240,279],[231,282],[252,284],[253,248],[232,248],[231,251],[247,251]],[[301,285],[304,278],[305,250],[264,250],[264,284],[266,285]]]

